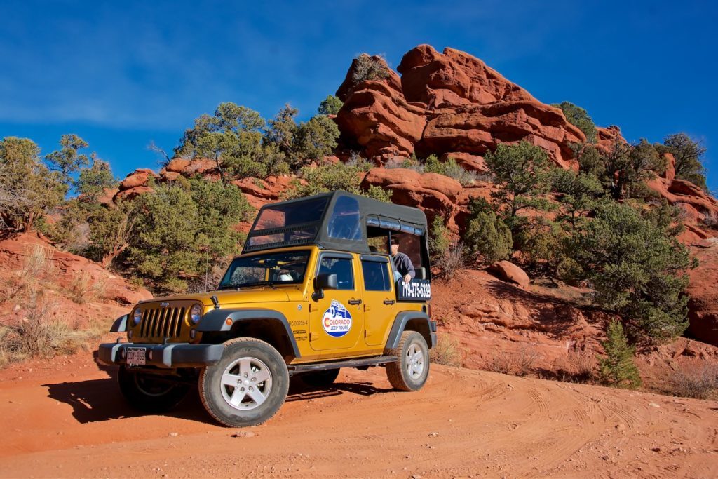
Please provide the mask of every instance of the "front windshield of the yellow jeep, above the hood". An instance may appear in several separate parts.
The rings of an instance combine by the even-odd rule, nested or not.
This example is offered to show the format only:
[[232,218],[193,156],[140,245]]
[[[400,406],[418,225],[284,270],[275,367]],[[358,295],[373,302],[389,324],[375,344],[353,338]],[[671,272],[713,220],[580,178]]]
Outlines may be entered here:
[[309,251],[257,254],[234,259],[218,289],[261,284],[301,284]]

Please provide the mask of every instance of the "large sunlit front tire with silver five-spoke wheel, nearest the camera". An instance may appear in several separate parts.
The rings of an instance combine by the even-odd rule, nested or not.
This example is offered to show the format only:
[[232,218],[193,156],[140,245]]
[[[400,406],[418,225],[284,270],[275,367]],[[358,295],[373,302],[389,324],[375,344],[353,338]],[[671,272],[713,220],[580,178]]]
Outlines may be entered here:
[[236,338],[224,346],[220,361],[200,373],[202,404],[228,427],[265,422],[279,411],[289,391],[284,358],[272,345],[255,338]]

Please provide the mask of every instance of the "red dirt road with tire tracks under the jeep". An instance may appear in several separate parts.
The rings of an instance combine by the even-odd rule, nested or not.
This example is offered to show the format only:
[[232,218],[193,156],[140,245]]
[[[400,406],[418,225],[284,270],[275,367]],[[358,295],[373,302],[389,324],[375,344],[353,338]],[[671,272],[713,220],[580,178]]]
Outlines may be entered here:
[[442,366],[399,393],[373,368],[226,429],[196,395],[137,414],[87,354],[30,366],[0,372],[0,477],[718,476],[716,401]]

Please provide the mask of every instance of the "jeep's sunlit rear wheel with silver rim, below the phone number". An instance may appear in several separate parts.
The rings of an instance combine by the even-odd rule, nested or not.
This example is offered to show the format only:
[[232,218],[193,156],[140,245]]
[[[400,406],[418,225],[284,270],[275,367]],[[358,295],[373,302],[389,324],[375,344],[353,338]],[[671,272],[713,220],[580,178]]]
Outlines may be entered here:
[[386,365],[391,386],[400,391],[419,391],[429,377],[429,348],[424,336],[416,331],[402,332],[398,346],[389,350],[389,354],[398,357],[398,361]]

